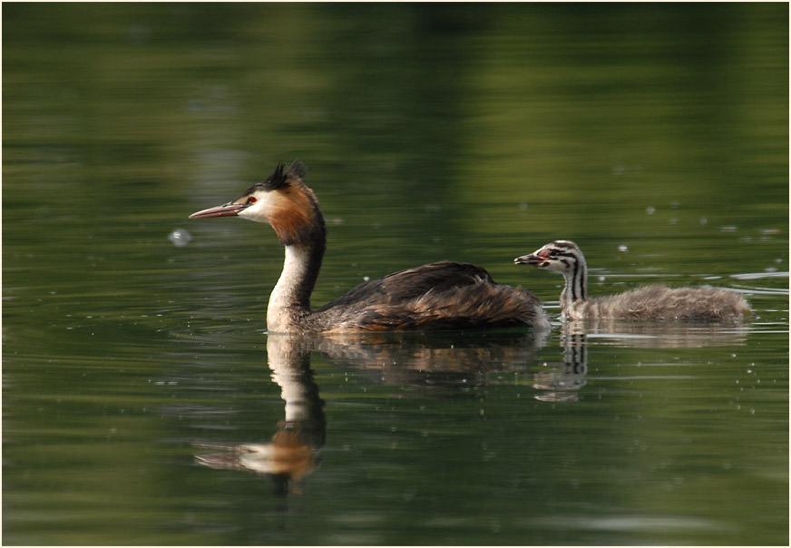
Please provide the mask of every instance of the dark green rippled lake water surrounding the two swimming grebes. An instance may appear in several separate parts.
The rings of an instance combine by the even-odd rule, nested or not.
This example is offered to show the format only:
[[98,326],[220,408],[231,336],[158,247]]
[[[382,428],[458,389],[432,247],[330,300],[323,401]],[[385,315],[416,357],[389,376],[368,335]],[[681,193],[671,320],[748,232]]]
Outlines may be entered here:
[[[6,544],[788,543],[786,4],[5,4],[3,30]],[[455,259],[556,317],[513,258],[566,238],[594,294],[710,284],[756,318],[268,337],[271,230],[186,218],[294,158],[316,304]]]

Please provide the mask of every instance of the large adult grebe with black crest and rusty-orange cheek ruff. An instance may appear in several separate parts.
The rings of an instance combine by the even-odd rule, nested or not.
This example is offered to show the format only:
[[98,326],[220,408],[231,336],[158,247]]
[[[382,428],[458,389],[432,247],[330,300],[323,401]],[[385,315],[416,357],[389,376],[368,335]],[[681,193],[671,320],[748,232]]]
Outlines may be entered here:
[[530,291],[497,284],[471,264],[435,262],[362,283],[317,310],[310,308],[327,248],[327,226],[299,161],[278,164],[239,198],[190,219],[242,217],[268,223],[286,248],[267,307],[270,333],[432,331],[529,327],[549,329]]

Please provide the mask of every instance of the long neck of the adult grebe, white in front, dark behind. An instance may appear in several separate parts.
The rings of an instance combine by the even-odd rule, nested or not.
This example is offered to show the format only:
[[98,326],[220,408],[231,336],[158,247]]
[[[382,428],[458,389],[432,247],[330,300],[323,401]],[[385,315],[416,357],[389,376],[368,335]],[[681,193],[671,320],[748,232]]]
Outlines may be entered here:
[[283,271],[269,296],[267,329],[270,333],[302,330],[301,326],[310,315],[310,295],[316,287],[327,249],[326,240],[322,231],[315,240],[286,246]]

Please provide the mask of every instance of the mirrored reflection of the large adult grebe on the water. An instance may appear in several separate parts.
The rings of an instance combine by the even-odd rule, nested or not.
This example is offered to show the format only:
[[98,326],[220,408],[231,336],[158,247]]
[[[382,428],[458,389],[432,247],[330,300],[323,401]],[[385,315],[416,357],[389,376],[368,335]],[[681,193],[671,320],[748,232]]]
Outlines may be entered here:
[[245,470],[272,478],[279,496],[299,494],[303,480],[321,463],[327,437],[325,402],[310,368],[314,352],[340,368],[376,371],[384,384],[419,387],[421,397],[463,396],[460,387],[482,386],[493,372],[525,370],[546,334],[385,334],[318,338],[269,335],[267,361],[280,387],[285,418],[271,441],[194,445],[200,465]]

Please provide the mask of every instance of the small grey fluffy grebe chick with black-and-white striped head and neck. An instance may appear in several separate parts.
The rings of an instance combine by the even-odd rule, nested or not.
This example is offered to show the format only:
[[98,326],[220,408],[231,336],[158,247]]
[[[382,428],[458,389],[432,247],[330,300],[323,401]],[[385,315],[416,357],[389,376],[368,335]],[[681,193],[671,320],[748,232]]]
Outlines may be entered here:
[[588,268],[573,241],[553,241],[513,262],[560,272],[566,280],[561,293],[562,317],[571,320],[738,320],[750,310],[747,300],[738,293],[716,288],[669,289],[657,284],[620,295],[588,298]]

